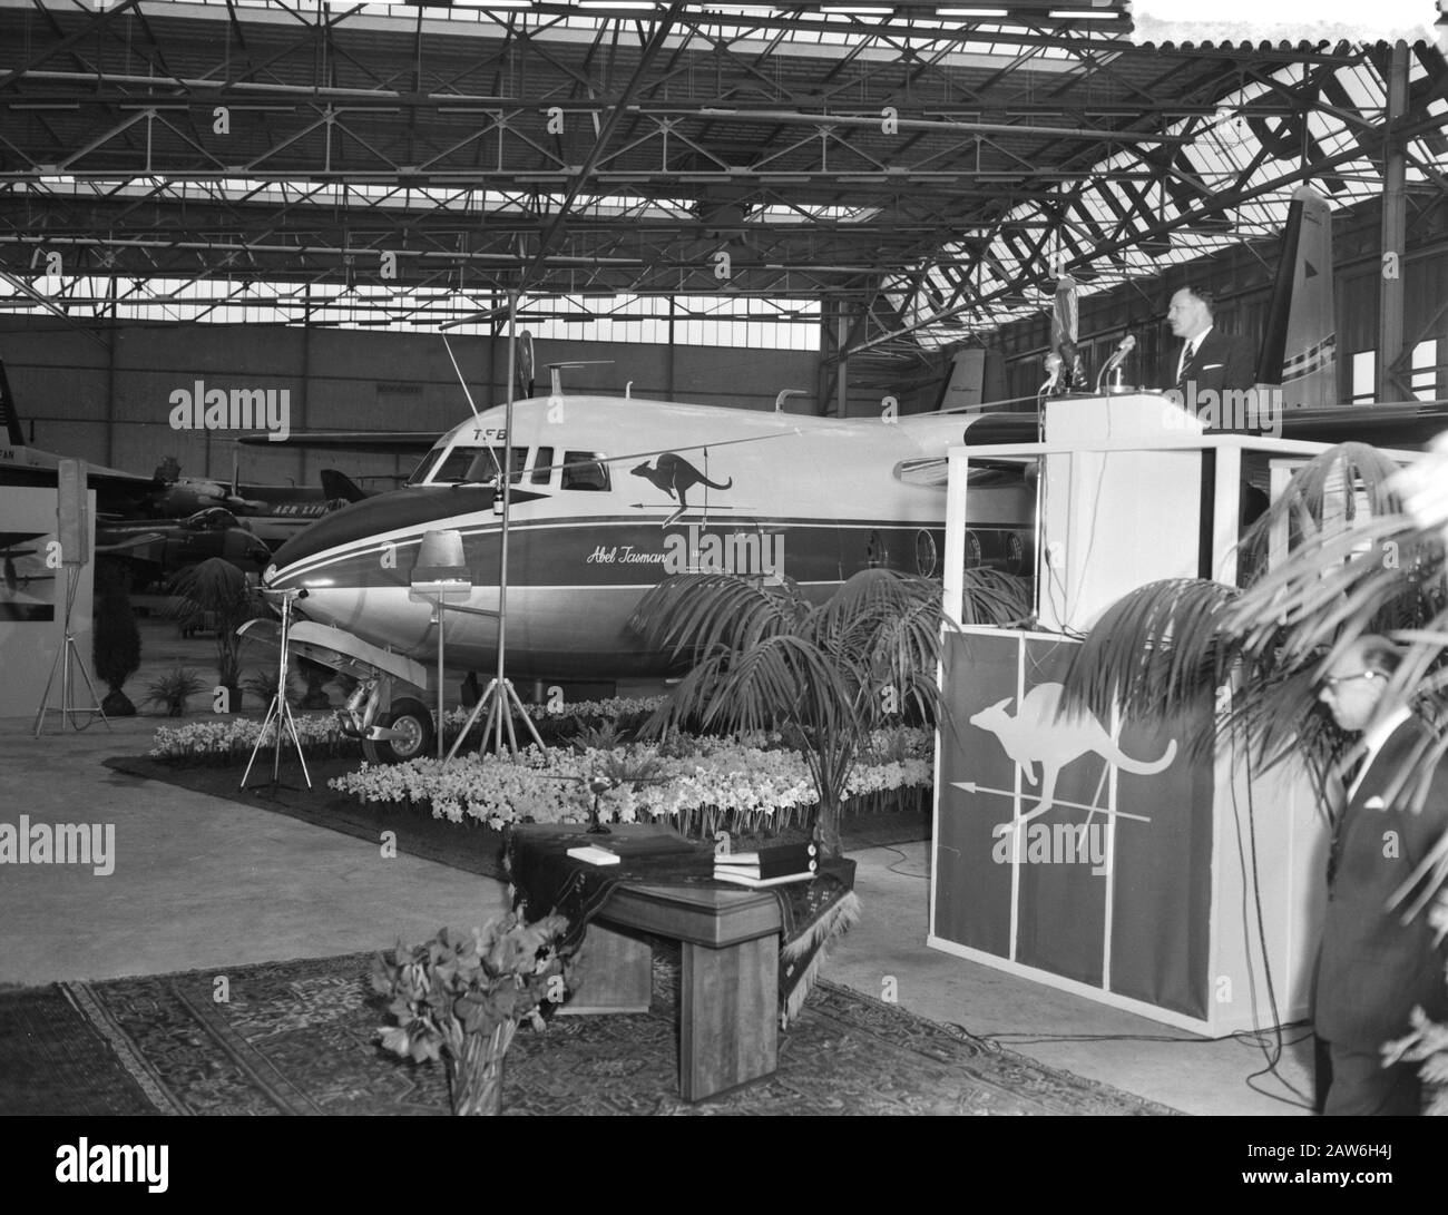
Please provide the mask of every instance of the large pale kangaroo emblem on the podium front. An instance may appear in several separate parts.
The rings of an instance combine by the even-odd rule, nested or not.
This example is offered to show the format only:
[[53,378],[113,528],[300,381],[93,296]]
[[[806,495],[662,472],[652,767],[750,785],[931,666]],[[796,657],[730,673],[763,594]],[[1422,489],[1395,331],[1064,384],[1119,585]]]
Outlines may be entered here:
[[1041,765],[1040,804],[1030,814],[1021,815],[1015,821],[1016,827],[1056,804],[1056,778],[1067,763],[1083,754],[1099,754],[1106,763],[1134,776],[1154,776],[1176,759],[1176,739],[1167,743],[1161,759],[1140,760],[1127,754],[1090,714],[1058,715],[1061,691],[1060,684],[1037,684],[1021,698],[1015,717],[1005,711],[1015,698],[1006,697],[970,718],[972,726],[1001,740],[1005,753],[1021,766],[1028,783],[1035,785],[1035,765]]

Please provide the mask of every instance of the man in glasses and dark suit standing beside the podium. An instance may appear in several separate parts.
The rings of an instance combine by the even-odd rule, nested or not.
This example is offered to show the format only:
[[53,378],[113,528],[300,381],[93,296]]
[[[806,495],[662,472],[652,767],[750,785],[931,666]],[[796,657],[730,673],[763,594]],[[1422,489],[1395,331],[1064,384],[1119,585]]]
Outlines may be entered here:
[[[1361,731],[1361,766],[1332,814],[1328,907],[1313,991],[1318,1103],[1323,1114],[1418,1114],[1418,1063],[1383,1067],[1384,1043],[1403,1037],[1422,1006],[1448,1015],[1445,954],[1426,915],[1403,924],[1393,896],[1448,831],[1448,772],[1426,770],[1432,728],[1384,692],[1399,650],[1360,637],[1322,679],[1319,698],[1347,731]],[[1399,781],[1407,773],[1406,782]],[[1420,811],[1412,808],[1428,783]],[[1394,791],[1402,783],[1403,788]]]

